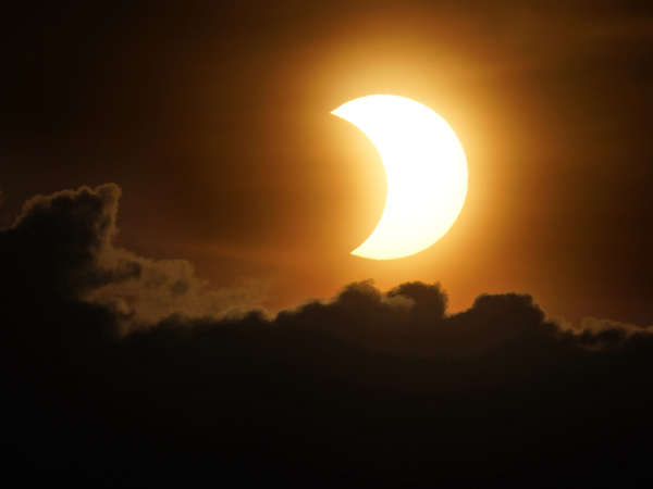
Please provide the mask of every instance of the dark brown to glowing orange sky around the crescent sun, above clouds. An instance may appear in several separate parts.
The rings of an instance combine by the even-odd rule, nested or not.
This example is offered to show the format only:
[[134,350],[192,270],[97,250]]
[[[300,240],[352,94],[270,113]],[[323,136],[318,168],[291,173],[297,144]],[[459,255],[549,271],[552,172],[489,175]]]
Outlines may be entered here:
[[[36,193],[114,181],[120,243],[271,306],[441,280],[454,310],[530,292],[550,314],[653,324],[648,2],[21,2],[3,13],[3,224]],[[418,100],[466,150],[449,233],[348,253],[383,211],[365,135],[329,114]]]

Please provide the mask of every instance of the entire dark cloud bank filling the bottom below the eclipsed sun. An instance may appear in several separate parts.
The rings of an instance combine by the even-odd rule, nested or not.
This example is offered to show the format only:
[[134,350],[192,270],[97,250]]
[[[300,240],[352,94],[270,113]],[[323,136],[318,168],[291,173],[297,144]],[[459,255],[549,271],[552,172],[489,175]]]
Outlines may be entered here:
[[[653,328],[440,284],[276,315],[113,244],[109,184],[0,231],[2,419],[23,481],[567,487],[650,475]],[[8,475],[9,477],[9,475]],[[33,480],[35,479],[35,480]],[[139,482],[140,481],[140,482]]]

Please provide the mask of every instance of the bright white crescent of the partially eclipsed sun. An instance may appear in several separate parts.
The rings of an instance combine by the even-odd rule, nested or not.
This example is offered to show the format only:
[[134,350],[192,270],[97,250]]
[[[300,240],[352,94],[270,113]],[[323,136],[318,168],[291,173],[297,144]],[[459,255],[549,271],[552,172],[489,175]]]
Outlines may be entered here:
[[467,195],[465,152],[444,118],[419,102],[387,95],[352,100],[331,113],[371,139],[387,177],[383,216],[352,254],[398,259],[444,236]]

